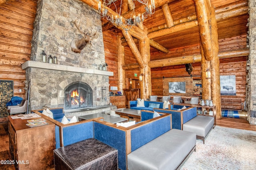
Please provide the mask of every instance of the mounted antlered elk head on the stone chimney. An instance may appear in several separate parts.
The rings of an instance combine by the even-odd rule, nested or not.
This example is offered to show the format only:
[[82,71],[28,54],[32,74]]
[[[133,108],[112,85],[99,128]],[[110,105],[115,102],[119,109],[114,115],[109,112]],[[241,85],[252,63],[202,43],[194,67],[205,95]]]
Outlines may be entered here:
[[74,38],[71,41],[71,50],[74,53],[81,53],[82,49],[87,45],[87,43],[90,43],[93,38],[98,37],[99,32],[98,30],[88,31],[87,29],[84,29],[84,31],[80,28],[80,20],[73,21],[74,25],[77,27],[78,31],[83,35],[83,38]]

